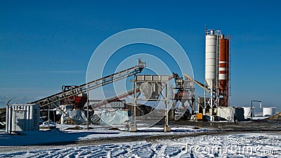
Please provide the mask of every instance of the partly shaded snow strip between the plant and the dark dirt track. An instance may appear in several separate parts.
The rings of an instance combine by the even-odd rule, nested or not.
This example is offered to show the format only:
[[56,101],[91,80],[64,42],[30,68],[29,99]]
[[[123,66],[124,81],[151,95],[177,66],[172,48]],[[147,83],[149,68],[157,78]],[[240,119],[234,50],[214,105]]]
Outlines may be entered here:
[[[60,129],[70,126],[60,126]],[[73,127],[73,126],[72,126]],[[85,126],[84,126],[85,127]],[[99,138],[121,138],[126,136],[157,136],[180,133],[195,133],[210,131],[209,129],[193,129],[192,127],[171,128],[171,132],[164,133],[164,128],[138,127],[138,132],[110,130],[110,127],[94,126],[93,129],[86,130],[40,130],[40,131],[21,131],[20,135],[11,135],[0,130],[0,146],[22,146],[22,145],[44,145],[53,143],[67,143],[79,140],[93,140]]]

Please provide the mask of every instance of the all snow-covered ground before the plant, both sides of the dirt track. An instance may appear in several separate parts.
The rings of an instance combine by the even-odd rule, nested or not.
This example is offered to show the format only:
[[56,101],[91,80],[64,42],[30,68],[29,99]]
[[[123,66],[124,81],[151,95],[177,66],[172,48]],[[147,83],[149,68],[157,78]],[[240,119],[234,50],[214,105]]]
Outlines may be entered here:
[[[133,142],[100,145],[57,145],[0,152],[0,157],[281,157],[281,133],[229,133],[169,138],[169,134],[200,133],[207,129],[193,127],[141,129],[137,133],[112,131],[103,127],[92,130],[34,131],[25,136],[0,133],[0,145],[31,145],[74,140],[93,140],[126,136],[167,135]],[[20,148],[22,149],[22,148]]]

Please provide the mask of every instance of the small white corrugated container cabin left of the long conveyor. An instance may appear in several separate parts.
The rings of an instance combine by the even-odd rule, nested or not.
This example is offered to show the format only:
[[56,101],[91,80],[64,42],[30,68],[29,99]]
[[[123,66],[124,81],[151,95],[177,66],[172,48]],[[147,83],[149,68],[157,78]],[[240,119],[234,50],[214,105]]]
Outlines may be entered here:
[[6,132],[39,131],[40,107],[37,104],[12,104],[6,107]]

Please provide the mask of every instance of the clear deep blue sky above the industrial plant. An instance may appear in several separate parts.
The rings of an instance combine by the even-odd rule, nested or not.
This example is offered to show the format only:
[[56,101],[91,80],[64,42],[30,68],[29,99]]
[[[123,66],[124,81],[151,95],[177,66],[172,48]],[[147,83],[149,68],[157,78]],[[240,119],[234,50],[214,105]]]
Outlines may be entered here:
[[279,7],[279,1],[0,1],[0,106],[84,84],[95,48],[138,27],[176,39],[203,82],[207,24],[231,35],[230,104],[255,99],[281,110]]

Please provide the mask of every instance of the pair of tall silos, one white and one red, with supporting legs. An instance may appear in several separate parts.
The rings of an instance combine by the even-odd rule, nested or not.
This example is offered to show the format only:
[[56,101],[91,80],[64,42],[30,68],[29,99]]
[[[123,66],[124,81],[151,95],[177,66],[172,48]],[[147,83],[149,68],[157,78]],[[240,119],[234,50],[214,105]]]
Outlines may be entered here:
[[220,30],[205,30],[205,84],[203,114],[213,108],[228,107],[230,81],[230,36]]

